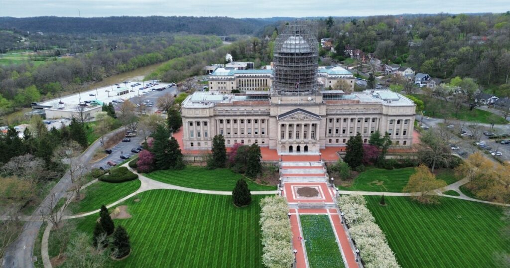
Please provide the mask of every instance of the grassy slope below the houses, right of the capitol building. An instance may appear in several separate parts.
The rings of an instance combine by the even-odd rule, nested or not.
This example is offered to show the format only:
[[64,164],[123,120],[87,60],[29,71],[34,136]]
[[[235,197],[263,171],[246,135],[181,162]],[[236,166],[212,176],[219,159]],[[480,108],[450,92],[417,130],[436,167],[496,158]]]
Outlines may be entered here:
[[[423,94],[413,94],[416,98],[423,101],[425,105],[425,113],[426,116],[431,116],[435,118],[444,118],[445,115],[451,118],[456,118],[464,121],[472,121],[479,123],[487,123],[490,124],[489,117],[493,115],[491,112],[482,111],[479,109],[469,110],[469,107],[463,107],[458,113],[455,115],[455,110],[452,103],[446,103],[444,100],[429,98]],[[498,119],[495,122],[496,124],[508,124],[503,117],[498,116]]]

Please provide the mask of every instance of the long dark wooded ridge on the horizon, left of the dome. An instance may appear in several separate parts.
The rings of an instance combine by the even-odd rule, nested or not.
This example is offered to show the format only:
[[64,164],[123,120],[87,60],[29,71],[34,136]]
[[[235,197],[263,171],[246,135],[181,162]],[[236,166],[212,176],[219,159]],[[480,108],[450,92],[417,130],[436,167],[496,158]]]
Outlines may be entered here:
[[253,34],[270,23],[262,19],[229,17],[0,17],[0,29],[43,33],[159,33]]

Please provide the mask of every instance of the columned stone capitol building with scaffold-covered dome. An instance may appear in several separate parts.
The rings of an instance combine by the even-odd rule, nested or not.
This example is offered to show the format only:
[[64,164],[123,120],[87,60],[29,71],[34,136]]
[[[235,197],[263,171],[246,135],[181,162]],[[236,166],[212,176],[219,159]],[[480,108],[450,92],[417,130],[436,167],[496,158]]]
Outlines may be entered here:
[[284,28],[276,39],[273,60],[271,80],[256,84],[267,90],[257,86],[226,94],[233,85],[226,80],[232,84],[225,83],[225,91],[215,84],[209,92],[188,96],[182,103],[185,150],[211,150],[213,137],[223,135],[227,148],[257,143],[278,154],[318,153],[345,146],[356,133],[368,142],[376,130],[388,132],[394,145],[413,144],[416,105],[405,96],[389,90],[323,90],[318,42],[307,22],[291,22]]

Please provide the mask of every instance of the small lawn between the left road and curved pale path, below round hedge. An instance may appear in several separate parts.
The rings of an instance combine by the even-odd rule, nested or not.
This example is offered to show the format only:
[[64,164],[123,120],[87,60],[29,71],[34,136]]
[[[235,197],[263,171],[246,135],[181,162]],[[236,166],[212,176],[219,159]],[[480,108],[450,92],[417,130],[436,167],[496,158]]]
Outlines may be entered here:
[[106,206],[135,192],[140,188],[140,184],[138,179],[121,183],[95,182],[81,191],[85,194],[85,199],[79,203],[71,203],[71,209],[74,213],[100,209],[101,205]]

